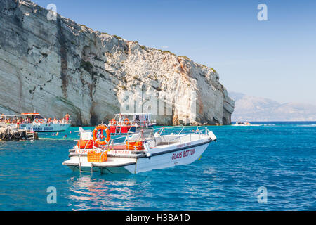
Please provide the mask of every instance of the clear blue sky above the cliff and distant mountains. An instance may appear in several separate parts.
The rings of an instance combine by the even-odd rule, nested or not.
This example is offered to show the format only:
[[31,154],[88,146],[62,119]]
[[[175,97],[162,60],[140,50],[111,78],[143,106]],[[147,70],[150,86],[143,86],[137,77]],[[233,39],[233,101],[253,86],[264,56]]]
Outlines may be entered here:
[[[61,15],[216,69],[228,91],[316,105],[316,1],[75,1]],[[258,4],[268,6],[259,21]]]

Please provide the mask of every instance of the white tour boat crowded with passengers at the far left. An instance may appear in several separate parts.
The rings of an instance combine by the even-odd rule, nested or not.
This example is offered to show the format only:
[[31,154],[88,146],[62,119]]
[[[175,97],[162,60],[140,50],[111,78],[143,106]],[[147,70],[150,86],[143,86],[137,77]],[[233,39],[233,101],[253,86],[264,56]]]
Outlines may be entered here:
[[[18,115],[1,115],[2,120],[10,119],[8,125],[19,129],[32,130],[34,132],[59,132],[65,131],[72,124],[68,120],[55,120],[48,122],[39,113],[21,113]],[[18,120],[20,120],[18,122]]]

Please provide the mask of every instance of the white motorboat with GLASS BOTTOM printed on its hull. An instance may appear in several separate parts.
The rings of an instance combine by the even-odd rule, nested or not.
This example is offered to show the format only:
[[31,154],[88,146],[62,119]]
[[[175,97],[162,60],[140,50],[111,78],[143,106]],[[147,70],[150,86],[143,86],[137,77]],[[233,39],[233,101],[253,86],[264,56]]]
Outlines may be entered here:
[[[164,127],[156,132],[153,127],[143,127],[134,134],[111,139],[109,129],[103,124],[93,131],[84,131],[79,127],[80,140],[69,150],[70,160],[62,162],[62,165],[73,171],[91,174],[137,174],[188,165],[201,158],[209,143],[216,141],[216,136],[206,127],[197,127],[189,134],[183,134],[183,129],[178,134],[162,135],[166,130]],[[101,141],[105,138],[103,131],[107,133],[105,141]]]

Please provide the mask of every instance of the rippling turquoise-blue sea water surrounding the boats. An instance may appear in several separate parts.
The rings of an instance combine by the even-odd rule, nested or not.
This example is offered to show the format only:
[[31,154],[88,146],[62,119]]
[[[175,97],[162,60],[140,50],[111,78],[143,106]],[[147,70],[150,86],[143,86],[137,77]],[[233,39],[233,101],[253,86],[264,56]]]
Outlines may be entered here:
[[[218,141],[201,160],[140,174],[79,176],[63,166],[76,127],[1,142],[0,210],[316,210],[316,122],[209,129]],[[49,186],[57,203],[47,203]]]

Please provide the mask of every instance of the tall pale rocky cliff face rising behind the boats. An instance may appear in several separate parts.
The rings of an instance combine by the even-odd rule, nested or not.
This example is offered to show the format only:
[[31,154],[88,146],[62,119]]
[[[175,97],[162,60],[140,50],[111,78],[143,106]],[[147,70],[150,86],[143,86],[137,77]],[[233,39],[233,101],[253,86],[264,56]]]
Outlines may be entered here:
[[152,110],[159,124],[230,124],[235,102],[211,68],[60,15],[49,21],[30,1],[3,0],[0,13],[0,113],[97,124],[129,101],[130,113]]

